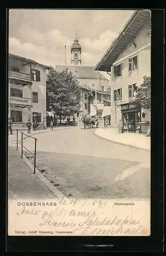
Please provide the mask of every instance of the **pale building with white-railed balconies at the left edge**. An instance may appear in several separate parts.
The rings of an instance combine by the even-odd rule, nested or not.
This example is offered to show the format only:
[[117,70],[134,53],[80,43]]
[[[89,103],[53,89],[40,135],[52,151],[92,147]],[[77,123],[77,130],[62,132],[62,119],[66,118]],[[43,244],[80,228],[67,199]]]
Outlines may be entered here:
[[32,59],[9,54],[9,117],[12,129],[26,129],[26,123],[46,122],[46,70],[50,67]]

